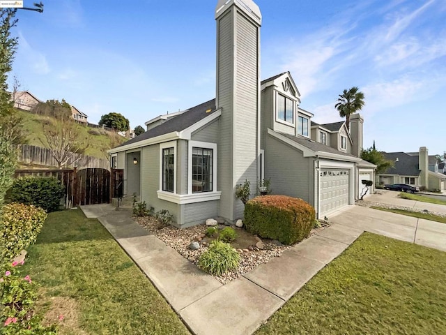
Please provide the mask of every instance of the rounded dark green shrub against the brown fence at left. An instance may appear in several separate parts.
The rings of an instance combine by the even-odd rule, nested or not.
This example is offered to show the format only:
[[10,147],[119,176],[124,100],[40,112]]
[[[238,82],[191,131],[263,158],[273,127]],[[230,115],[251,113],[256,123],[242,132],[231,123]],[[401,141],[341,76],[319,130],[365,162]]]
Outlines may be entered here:
[[15,179],[9,193],[12,202],[32,204],[50,212],[59,209],[65,187],[54,177],[22,177]]

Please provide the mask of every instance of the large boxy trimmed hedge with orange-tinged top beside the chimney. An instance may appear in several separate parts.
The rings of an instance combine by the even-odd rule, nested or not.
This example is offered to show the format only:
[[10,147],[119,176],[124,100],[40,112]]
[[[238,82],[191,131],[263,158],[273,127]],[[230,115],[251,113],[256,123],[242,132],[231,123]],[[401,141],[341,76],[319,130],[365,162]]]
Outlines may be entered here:
[[302,241],[312,230],[316,214],[302,199],[286,195],[263,195],[245,205],[245,227],[266,239],[283,244]]

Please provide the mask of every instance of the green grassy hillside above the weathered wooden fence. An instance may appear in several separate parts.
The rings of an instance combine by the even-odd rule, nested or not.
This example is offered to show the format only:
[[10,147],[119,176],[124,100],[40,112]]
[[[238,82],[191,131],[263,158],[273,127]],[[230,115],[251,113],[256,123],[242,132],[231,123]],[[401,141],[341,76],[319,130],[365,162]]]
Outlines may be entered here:
[[[43,123],[52,121],[52,119],[22,110],[17,110],[17,113],[24,119],[24,131],[28,133],[28,144],[47,148],[47,140],[45,139],[45,135],[43,135]],[[79,125],[79,129],[80,137],[84,138],[84,141],[89,144],[85,153],[88,156],[106,158],[107,149],[116,147],[116,145],[126,140],[124,137],[109,133],[100,128]]]

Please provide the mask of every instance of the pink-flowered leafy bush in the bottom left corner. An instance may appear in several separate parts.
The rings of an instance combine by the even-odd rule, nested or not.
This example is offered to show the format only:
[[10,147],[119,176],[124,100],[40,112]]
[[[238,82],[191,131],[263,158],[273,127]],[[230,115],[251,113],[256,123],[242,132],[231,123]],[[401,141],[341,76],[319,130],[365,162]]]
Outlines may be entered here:
[[33,311],[37,285],[29,275],[20,274],[23,262],[1,267],[0,334],[57,334],[56,325],[43,326],[42,318]]

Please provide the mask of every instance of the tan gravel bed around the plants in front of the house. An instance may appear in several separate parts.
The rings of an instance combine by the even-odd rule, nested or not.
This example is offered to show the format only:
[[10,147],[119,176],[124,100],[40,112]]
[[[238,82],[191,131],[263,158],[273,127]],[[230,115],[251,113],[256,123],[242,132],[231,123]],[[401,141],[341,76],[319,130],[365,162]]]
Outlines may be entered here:
[[[180,255],[183,255],[184,258],[190,260],[190,262],[194,263],[195,265],[198,264],[201,253],[208,249],[208,242],[204,241],[206,239],[206,229],[208,228],[206,225],[196,225],[191,228],[178,229],[170,225],[161,227],[160,224],[157,223],[156,219],[152,216],[139,217],[134,219],[137,223],[139,223],[139,225],[141,225],[141,227],[150,232],[153,232],[156,237],[161,239],[171,248],[174,248],[176,251],[178,251],[178,253],[180,253]],[[219,229],[222,229],[225,226],[217,225],[217,227]],[[321,228],[312,230],[310,236],[312,234],[315,234],[316,232],[323,230],[326,227],[328,227],[328,224],[324,224],[321,226]],[[241,228],[234,229],[238,231],[238,229]],[[229,271],[222,276],[215,276],[215,278],[223,284],[229,283],[230,281],[233,281],[233,279],[242,276],[252,269],[255,269],[259,265],[269,262],[270,260],[272,260],[272,258],[280,257],[282,253],[286,251],[286,249],[291,247],[284,246],[280,244],[279,241],[266,241],[259,239],[259,237],[256,237],[256,240],[258,242],[261,241],[261,243],[253,244],[252,246],[249,246],[249,248],[236,248],[241,256],[240,266],[236,271]],[[199,241],[199,249],[192,250],[189,248],[190,244],[193,241]],[[256,245],[263,246],[263,250],[257,248]]]

